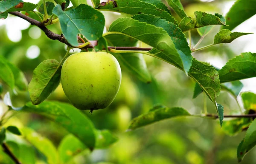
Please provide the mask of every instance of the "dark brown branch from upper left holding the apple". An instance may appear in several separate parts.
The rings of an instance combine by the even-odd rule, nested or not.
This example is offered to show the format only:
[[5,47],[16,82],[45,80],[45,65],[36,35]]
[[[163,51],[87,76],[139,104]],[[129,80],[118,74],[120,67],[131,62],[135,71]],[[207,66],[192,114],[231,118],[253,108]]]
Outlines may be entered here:
[[[17,17],[20,17],[26,21],[28,21],[29,23],[31,23],[31,25],[36,25],[38,26],[39,28],[41,28],[42,31],[44,31],[44,33],[46,34],[47,37],[49,37],[50,39],[52,40],[58,40],[70,47],[73,47],[72,45],[70,45],[67,40],[65,39],[64,35],[61,34],[55,34],[54,32],[50,31],[45,25],[44,23],[47,23],[47,22],[39,22],[37,20],[34,20],[32,19],[31,17],[28,17],[24,14],[21,14],[20,12],[17,12],[17,11],[14,11],[14,12],[9,12],[10,14],[12,15],[15,15]],[[49,20],[47,20],[49,21]],[[81,43],[81,45],[84,44],[84,43]],[[92,45],[86,45],[84,46],[83,48],[80,48],[80,49],[86,49],[86,48],[93,48]],[[151,50],[151,48],[141,48],[141,47],[111,47],[109,46],[108,47],[108,50],[110,51],[110,49],[116,49],[116,50],[135,50],[135,51],[149,51]]]

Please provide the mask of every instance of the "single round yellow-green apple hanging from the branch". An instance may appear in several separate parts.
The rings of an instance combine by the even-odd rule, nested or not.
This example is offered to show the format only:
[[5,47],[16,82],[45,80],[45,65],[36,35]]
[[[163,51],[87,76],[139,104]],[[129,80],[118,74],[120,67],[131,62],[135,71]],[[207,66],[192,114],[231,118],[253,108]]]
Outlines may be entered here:
[[68,57],[61,68],[61,85],[70,102],[80,110],[111,105],[121,84],[121,68],[106,52],[81,52]]

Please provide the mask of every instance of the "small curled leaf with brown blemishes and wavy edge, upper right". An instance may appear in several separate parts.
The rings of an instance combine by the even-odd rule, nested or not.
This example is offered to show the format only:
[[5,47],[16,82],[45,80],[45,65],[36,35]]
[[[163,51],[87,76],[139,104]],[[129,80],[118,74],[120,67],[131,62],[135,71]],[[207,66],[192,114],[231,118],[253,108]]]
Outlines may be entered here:
[[218,13],[215,15],[207,14],[202,11],[195,11],[195,17],[184,17],[180,22],[180,29],[183,32],[201,28],[207,25],[226,25],[225,18]]

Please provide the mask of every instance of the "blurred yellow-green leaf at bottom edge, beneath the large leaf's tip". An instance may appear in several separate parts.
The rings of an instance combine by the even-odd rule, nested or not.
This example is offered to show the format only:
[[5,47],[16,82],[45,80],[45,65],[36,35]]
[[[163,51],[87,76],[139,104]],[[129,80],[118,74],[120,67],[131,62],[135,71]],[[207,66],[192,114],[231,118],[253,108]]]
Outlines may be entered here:
[[58,146],[61,163],[67,164],[68,161],[86,149],[89,150],[79,139],[72,134],[68,134]]

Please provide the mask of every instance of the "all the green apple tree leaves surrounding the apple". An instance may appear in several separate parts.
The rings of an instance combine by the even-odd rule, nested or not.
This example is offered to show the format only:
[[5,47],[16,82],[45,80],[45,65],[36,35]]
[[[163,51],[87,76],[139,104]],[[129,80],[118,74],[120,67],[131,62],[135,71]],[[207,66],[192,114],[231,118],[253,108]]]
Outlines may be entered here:
[[[192,53],[217,44],[230,43],[237,38],[251,34],[232,31],[236,26],[256,14],[256,0],[237,0],[230,8],[226,17],[221,14],[209,14],[195,11],[193,17],[186,15],[179,0],[166,0],[181,21],[172,16],[171,11],[160,0],[91,0],[93,6],[87,5],[86,0],[54,0],[40,4],[26,3],[22,0],[1,0],[0,19],[6,19],[8,13],[17,16],[17,12],[26,15],[25,20],[39,21],[38,27],[45,29],[47,25],[59,23],[61,36],[70,48],[87,49],[91,46],[95,51],[108,51],[113,54],[124,67],[128,68],[142,82],[151,82],[151,76],[145,65],[142,54],[163,60],[183,71],[192,78],[195,84],[193,98],[205,93],[213,103],[217,115],[204,114],[202,118],[218,118],[220,127],[233,136],[242,130],[247,130],[241,143],[237,143],[237,158],[239,161],[256,145],[256,121],[253,117],[224,120],[224,107],[218,104],[217,98],[221,90],[227,90],[235,98],[239,95],[243,85],[239,81],[256,77],[256,53],[244,52],[230,59],[221,69],[216,69],[208,63],[201,62],[193,57]],[[72,3],[73,7],[67,8]],[[37,10],[36,10],[37,8]],[[104,33],[105,17],[101,11],[113,11],[125,13],[112,22],[107,32]],[[238,12],[239,11],[239,12]],[[16,14],[15,14],[16,12]],[[31,23],[31,22],[30,22]],[[32,23],[33,25],[33,23]],[[213,25],[221,26],[221,30],[212,38],[212,44],[203,48],[192,48],[188,43],[186,33],[196,29],[201,36],[205,36]],[[44,30],[47,34],[47,31]],[[49,32],[49,31],[48,31]],[[48,36],[50,39],[51,36]],[[246,36],[245,36],[246,37]],[[78,39],[79,38],[79,39]],[[84,42],[81,42],[84,41]],[[134,47],[138,42],[151,46],[149,51],[118,50],[112,47]],[[68,52],[67,52],[68,54]],[[90,119],[80,110],[63,102],[44,101],[60,83],[61,66],[67,55],[58,62],[55,59],[47,59],[35,68],[31,82],[26,81],[23,72],[4,57],[0,56],[0,79],[8,85],[8,91],[4,96],[4,102],[9,110],[17,112],[29,112],[42,115],[62,126],[68,134],[56,148],[52,142],[37,134],[28,127],[5,125],[6,118],[0,121],[0,143],[17,144],[19,149],[27,149],[29,141],[47,158],[49,164],[65,163],[71,160],[65,151],[76,150],[93,151],[97,148],[109,147],[117,141],[109,130],[98,130]],[[12,105],[12,94],[15,90],[28,90],[31,102],[22,107]],[[244,115],[251,110],[256,110],[256,94],[241,94]],[[181,107],[166,107],[157,105],[148,113],[137,116],[131,121],[128,130],[159,122],[173,117],[198,117]],[[23,138],[17,138],[17,136]],[[68,144],[69,141],[73,144]],[[17,156],[24,163],[33,163],[22,154]]]

